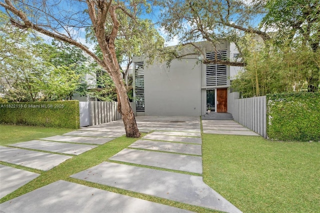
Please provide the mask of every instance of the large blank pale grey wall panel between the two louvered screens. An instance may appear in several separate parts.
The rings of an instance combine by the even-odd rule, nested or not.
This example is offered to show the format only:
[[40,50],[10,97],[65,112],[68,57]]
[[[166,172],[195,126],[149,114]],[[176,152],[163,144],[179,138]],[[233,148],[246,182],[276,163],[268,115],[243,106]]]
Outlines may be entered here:
[[196,58],[144,68],[144,115],[199,116],[201,69]]

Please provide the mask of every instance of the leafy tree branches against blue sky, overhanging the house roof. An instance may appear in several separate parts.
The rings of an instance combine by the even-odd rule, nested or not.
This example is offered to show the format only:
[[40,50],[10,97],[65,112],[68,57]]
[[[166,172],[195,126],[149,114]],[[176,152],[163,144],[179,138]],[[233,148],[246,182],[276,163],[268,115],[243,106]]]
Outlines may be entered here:
[[[238,43],[245,33],[258,34],[263,40],[269,34],[257,26],[256,19],[265,14],[263,0],[245,3],[242,0],[159,0],[162,6],[160,24],[170,38],[190,44],[201,55],[203,63],[243,66],[243,61],[208,60],[196,41],[207,40],[216,47],[221,41]],[[172,54],[177,55],[176,52]],[[177,55],[179,56],[179,55]],[[181,55],[183,56],[183,55]]]

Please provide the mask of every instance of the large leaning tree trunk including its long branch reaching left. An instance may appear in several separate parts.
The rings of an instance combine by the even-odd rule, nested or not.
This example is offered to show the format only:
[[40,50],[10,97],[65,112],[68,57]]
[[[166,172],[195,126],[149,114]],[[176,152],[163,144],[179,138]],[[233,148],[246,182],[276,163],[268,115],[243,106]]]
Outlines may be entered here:
[[[115,37],[117,36],[117,31],[119,28],[119,22],[116,18],[115,10],[122,9],[127,15],[130,15],[125,10],[125,8],[123,8],[123,6],[121,6],[120,4],[112,5],[112,2],[114,2],[112,0],[86,0],[87,6],[88,6],[88,14],[92,21],[93,30],[95,32],[98,44],[101,48],[101,52],[103,55],[103,59],[101,59],[96,54],[94,54],[91,50],[89,50],[86,46],[84,46],[80,42],[77,42],[75,39],[73,39],[70,34],[68,33],[62,34],[60,32],[57,32],[58,30],[54,30],[54,29],[48,30],[46,27],[43,27],[42,25],[38,25],[36,21],[31,22],[28,19],[26,12],[24,12],[23,10],[17,9],[12,2],[14,1],[12,0],[5,0],[5,2],[0,1],[0,6],[3,6],[6,10],[12,12],[13,14],[19,17],[19,18],[16,18],[16,17],[10,18],[10,22],[12,25],[22,29],[31,28],[40,33],[53,37],[55,39],[62,40],[64,42],[68,42],[72,45],[75,45],[81,48],[82,50],[84,50],[86,53],[88,53],[99,65],[101,65],[107,71],[107,73],[110,75],[110,77],[112,78],[115,84],[116,92],[118,95],[118,102],[120,104],[118,111],[122,115],[126,135],[129,137],[139,137],[140,133],[135,122],[135,118],[134,118],[132,108],[130,106],[129,98],[126,94],[124,83],[122,81],[122,74],[120,72],[119,64],[116,59],[116,52],[115,52],[115,46],[114,46],[114,40],[115,40]],[[24,2],[21,2],[21,3],[24,4]],[[26,3],[24,5],[26,8],[28,7]],[[30,16],[32,16],[32,9],[31,11],[28,11],[28,12],[31,12]],[[43,10],[41,12],[44,13],[44,16],[50,16],[49,19],[52,18],[51,17],[52,14],[47,13],[47,11]],[[108,15],[110,15],[112,19],[112,23],[108,23],[108,24],[112,24],[111,32],[108,32],[105,29],[105,21]],[[132,18],[134,18],[134,16],[132,16]],[[43,18],[43,19],[46,19],[46,18]],[[71,17],[69,20],[71,20]],[[57,21],[63,27],[69,23],[67,19],[66,19],[66,23],[64,23],[64,20],[59,20],[59,19],[54,19],[54,21]],[[47,25],[50,25],[49,20]]]

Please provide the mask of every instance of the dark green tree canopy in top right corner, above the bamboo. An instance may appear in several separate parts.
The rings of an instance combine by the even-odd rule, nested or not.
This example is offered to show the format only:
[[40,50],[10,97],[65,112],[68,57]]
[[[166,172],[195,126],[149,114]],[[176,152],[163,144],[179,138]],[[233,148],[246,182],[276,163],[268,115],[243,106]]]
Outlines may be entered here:
[[310,46],[313,51],[320,45],[320,2],[318,0],[268,0],[267,14],[261,26],[276,31],[277,43],[294,43]]

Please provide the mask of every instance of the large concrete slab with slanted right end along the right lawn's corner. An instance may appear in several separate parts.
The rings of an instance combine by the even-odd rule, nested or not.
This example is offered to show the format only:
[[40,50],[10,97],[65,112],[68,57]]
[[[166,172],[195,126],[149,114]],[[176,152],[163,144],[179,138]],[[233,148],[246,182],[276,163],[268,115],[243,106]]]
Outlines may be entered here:
[[206,185],[201,176],[102,162],[71,177],[215,210],[241,212]]

